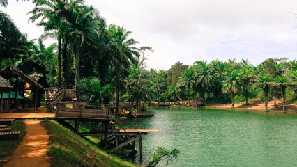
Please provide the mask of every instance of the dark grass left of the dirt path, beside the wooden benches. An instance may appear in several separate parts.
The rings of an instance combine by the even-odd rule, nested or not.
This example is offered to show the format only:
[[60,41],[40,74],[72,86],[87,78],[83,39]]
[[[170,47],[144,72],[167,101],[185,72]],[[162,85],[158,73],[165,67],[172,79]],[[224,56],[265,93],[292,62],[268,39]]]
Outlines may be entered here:
[[10,127],[12,131],[21,131],[21,136],[19,139],[6,139],[0,141],[0,166],[3,166],[3,164],[6,164],[6,162],[11,160],[13,152],[17,149],[22,138],[26,135],[26,126],[22,120],[16,120]]

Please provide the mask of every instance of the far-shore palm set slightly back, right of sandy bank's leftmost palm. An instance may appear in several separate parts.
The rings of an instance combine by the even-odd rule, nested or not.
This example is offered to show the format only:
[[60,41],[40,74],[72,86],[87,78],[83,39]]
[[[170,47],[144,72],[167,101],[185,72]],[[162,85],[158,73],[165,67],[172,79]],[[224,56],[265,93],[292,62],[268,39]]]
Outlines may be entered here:
[[245,104],[248,104],[248,87],[254,79],[254,74],[252,74],[252,68],[250,66],[244,66],[243,68],[241,68],[240,79],[241,81],[243,81]]

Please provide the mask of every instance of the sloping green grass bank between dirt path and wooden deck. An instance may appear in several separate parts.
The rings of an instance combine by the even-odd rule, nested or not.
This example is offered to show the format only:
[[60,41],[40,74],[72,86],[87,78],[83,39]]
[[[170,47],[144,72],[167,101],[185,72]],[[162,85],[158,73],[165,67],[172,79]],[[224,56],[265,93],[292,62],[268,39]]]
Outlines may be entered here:
[[100,150],[53,120],[41,122],[50,136],[52,166],[134,166]]

